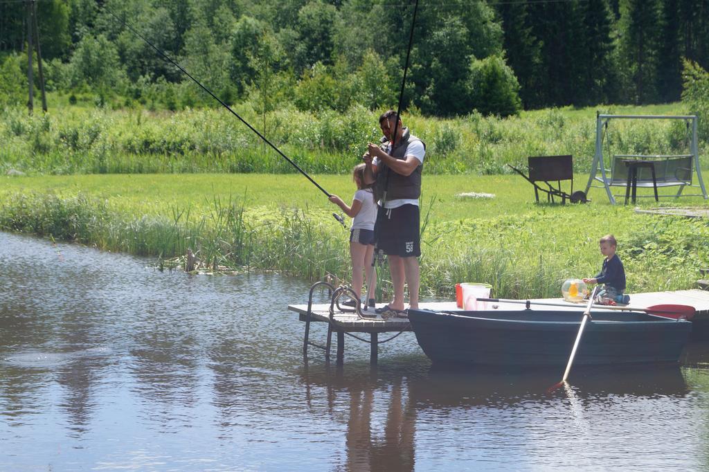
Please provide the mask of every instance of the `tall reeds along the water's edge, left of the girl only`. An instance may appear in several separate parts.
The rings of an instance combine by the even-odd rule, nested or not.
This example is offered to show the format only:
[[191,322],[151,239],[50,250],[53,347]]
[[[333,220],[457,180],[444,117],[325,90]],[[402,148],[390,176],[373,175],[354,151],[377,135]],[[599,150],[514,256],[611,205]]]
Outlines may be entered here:
[[[14,194],[0,204],[0,230],[51,236],[99,249],[154,256],[179,264],[188,249],[202,270],[281,271],[308,279],[345,278],[346,237],[306,211],[282,209],[249,220],[236,198],[213,198],[208,213],[172,207],[169,217],[131,215],[80,193]],[[328,221],[329,223],[329,221]]]

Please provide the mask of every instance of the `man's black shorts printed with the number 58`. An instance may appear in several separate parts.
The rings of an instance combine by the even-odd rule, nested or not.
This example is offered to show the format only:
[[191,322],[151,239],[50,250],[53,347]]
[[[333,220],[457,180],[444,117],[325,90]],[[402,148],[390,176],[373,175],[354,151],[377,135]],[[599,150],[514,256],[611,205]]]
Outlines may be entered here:
[[419,210],[417,205],[379,210],[374,227],[376,247],[389,256],[419,257]]

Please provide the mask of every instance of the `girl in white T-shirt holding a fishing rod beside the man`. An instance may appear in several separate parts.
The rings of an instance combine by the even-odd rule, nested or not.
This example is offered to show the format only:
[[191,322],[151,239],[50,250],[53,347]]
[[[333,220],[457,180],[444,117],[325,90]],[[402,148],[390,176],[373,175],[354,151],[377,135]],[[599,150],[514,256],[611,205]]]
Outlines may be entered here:
[[[362,298],[362,270],[367,268],[367,287],[372,298],[369,306],[374,306],[374,288],[376,279],[372,270],[372,257],[374,257],[374,221],[376,220],[376,203],[372,186],[364,184],[364,164],[357,164],[352,169],[352,181],[357,184],[357,191],[352,198],[352,206],[342,201],[337,195],[330,196],[330,201],[342,208],[352,220],[350,231],[350,256],[352,257],[352,290]],[[354,306],[354,300],[344,305]]]

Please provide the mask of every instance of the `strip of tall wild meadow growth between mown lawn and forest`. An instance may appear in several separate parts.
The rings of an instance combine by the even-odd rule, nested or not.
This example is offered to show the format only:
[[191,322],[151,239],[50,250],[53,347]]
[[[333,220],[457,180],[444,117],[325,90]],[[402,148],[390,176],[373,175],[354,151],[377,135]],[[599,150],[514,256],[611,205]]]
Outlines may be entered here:
[[[347,173],[366,143],[380,137],[379,113],[365,108],[317,115],[281,109],[265,117],[247,106],[236,111],[308,173]],[[545,154],[573,154],[576,172],[587,172],[596,111],[686,113],[681,103],[554,108],[505,119],[409,113],[406,124],[427,143],[427,174],[508,174],[506,164]],[[683,154],[686,138],[683,123],[618,120],[608,128],[605,146],[610,154]],[[64,104],[32,117],[23,108],[6,109],[0,114],[0,140],[0,174],[9,169],[29,174],[296,172],[223,109],[151,112]],[[702,142],[700,155],[709,165],[705,147]]]

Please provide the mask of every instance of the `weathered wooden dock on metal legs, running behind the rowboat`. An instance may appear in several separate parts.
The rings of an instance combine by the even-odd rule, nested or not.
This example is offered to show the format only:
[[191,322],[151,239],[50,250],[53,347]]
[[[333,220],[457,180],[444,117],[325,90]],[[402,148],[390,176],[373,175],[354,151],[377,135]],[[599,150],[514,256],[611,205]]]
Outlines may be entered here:
[[[562,298],[537,298],[530,300],[532,308],[534,302],[544,303],[565,303]],[[630,293],[630,306],[633,308],[648,308],[653,305],[690,305],[697,311],[693,319],[694,337],[701,339],[709,339],[705,336],[709,332],[709,291],[705,290],[679,290],[679,291],[660,291],[649,293]],[[459,310],[454,301],[450,302],[428,302],[420,303],[420,308],[424,310]],[[583,304],[567,303],[567,306],[562,307],[544,307],[538,305],[537,308],[554,308],[559,310],[574,310],[578,311],[583,308]],[[370,361],[376,363],[378,354],[378,345],[380,333],[397,333],[411,331],[411,325],[405,318],[388,318],[382,319],[380,315],[376,318],[359,318],[357,313],[349,311],[347,313],[333,311],[332,319],[330,319],[330,304],[313,304],[311,309],[311,322],[326,322],[329,323],[327,344],[324,346],[308,341],[308,305],[289,305],[288,309],[298,313],[298,319],[306,322],[306,336],[303,339],[303,354],[307,354],[308,345],[325,349],[325,356],[330,357],[330,336],[332,332],[337,333],[337,362],[342,362],[345,354],[345,333],[350,335],[368,334],[369,340],[359,338],[369,342],[370,344]],[[487,310],[525,310],[525,305],[518,303],[488,303]],[[596,310],[596,308],[594,308]]]

